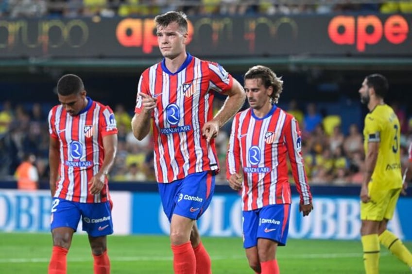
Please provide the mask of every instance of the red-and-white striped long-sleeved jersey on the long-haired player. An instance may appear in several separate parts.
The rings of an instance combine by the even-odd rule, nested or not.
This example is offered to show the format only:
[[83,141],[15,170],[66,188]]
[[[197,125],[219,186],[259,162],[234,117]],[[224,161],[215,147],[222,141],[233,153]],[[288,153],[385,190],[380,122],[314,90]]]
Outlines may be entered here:
[[232,174],[243,173],[243,210],[292,202],[286,154],[301,203],[311,202],[301,146],[297,121],[275,105],[263,118],[255,116],[251,108],[235,115],[226,158],[226,176],[229,179]]

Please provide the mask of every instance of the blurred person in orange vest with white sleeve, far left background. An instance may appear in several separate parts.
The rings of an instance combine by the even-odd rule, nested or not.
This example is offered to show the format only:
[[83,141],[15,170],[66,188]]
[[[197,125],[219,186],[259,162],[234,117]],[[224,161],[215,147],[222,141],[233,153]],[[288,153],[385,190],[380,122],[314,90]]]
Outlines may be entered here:
[[34,154],[26,154],[23,162],[17,167],[16,179],[19,190],[36,190],[38,188],[38,173],[34,166],[36,157]]

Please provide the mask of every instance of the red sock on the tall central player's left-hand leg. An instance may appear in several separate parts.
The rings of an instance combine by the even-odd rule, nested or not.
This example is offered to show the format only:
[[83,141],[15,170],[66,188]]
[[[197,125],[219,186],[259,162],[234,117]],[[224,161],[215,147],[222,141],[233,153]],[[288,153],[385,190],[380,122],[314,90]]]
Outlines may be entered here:
[[172,244],[172,251],[174,274],[196,274],[196,257],[190,241]]

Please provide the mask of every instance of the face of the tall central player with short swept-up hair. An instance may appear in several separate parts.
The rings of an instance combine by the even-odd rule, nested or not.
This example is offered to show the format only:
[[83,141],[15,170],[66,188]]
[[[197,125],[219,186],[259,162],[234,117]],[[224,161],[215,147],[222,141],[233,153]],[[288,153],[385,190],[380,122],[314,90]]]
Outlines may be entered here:
[[174,59],[185,51],[188,33],[182,33],[177,22],[157,28],[157,43],[163,57]]

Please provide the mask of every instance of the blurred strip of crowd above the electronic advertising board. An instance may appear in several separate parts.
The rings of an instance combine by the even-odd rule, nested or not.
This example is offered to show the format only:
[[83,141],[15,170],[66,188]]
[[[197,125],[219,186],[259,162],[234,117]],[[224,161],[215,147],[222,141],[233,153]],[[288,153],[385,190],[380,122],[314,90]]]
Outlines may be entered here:
[[[378,3],[377,3],[378,2]],[[411,13],[410,1],[273,0],[2,0],[0,17],[150,16],[170,10],[191,15],[275,15],[342,12]]]

